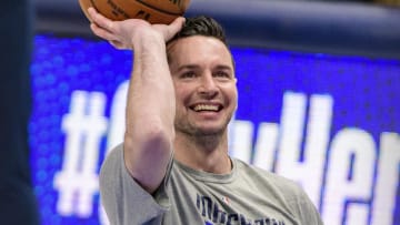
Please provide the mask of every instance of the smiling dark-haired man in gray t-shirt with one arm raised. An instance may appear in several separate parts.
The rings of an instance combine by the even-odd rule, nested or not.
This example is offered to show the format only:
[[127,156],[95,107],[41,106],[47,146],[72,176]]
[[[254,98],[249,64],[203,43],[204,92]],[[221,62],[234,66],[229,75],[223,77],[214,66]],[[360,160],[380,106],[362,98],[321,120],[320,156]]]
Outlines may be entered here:
[[322,224],[296,183],[228,155],[237,80],[213,19],[151,25],[89,13],[97,35],[134,50],[124,142],[100,173],[111,224]]

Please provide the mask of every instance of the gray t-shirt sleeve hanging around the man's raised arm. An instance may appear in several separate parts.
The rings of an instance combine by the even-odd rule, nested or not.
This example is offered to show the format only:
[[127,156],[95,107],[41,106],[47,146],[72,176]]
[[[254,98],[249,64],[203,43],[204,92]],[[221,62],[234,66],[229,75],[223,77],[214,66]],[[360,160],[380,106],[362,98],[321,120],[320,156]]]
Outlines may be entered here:
[[112,225],[146,224],[169,208],[168,175],[157,192],[146,192],[129,174],[123,161],[123,145],[113,149],[100,170],[100,198]]

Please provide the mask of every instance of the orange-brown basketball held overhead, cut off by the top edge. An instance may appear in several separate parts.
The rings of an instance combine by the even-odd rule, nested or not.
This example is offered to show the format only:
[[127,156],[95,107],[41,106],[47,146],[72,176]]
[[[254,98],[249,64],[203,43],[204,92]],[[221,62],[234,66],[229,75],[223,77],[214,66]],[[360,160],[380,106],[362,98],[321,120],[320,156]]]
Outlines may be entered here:
[[163,24],[182,16],[189,3],[190,0],[79,0],[88,19],[88,8],[93,7],[111,20],[143,19]]

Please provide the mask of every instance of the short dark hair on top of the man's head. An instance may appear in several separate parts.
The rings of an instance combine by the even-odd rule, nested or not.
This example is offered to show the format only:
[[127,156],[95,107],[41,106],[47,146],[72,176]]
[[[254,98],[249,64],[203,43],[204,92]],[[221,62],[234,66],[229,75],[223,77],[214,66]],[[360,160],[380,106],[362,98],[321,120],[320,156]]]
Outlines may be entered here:
[[182,29],[169,42],[192,35],[212,37],[222,41],[228,47],[221,24],[206,16],[187,18]]

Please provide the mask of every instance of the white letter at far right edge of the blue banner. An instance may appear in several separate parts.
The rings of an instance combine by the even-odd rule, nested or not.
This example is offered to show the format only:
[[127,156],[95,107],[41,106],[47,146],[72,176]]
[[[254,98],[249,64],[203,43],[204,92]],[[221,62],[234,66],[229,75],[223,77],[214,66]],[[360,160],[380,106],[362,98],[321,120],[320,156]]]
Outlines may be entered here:
[[399,185],[400,135],[382,133],[377,186],[372,204],[372,225],[393,224],[396,188]]

